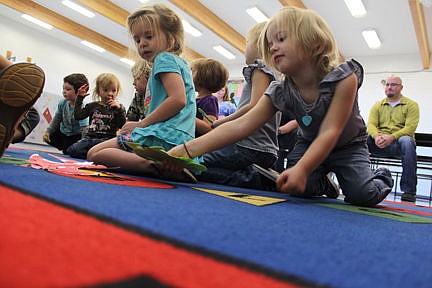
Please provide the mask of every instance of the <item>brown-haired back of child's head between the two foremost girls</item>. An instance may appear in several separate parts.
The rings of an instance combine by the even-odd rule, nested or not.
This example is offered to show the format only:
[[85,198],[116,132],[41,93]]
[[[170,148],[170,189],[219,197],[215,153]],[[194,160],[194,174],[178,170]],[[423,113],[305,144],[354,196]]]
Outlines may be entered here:
[[190,64],[194,83],[215,93],[228,81],[229,72],[224,64],[211,58],[200,58]]

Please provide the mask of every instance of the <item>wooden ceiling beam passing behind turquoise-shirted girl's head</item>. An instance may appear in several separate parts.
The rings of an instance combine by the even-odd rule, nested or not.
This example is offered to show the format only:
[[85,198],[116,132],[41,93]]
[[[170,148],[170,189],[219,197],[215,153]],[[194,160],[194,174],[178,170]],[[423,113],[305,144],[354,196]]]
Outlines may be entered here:
[[[123,9],[120,6],[115,5],[108,0],[78,0],[81,4],[87,6],[93,11],[105,16],[106,18],[116,22],[117,24],[126,27],[127,17],[130,12]],[[204,58],[203,55],[192,50],[189,47],[185,47],[182,55],[187,61],[192,61],[197,58]]]

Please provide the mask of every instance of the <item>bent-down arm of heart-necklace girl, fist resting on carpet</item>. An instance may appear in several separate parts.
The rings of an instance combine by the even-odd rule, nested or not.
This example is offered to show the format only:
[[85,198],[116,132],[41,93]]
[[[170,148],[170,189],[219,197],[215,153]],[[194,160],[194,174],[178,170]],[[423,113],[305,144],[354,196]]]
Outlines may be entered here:
[[337,84],[318,136],[297,164],[282,172],[277,179],[276,184],[281,192],[290,194],[304,192],[307,177],[328,157],[336,145],[352,113],[356,94],[357,76],[355,74],[351,74]]

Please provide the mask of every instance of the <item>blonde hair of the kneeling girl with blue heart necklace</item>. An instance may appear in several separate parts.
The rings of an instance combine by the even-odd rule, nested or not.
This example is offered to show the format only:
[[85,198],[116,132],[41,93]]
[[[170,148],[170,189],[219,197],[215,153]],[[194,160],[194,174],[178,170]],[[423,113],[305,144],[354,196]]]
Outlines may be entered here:
[[339,64],[336,40],[324,19],[314,11],[290,6],[275,14],[261,34],[260,47],[267,65],[274,67],[266,35],[270,24],[283,27],[290,40],[294,41],[300,55],[314,59],[322,76]]

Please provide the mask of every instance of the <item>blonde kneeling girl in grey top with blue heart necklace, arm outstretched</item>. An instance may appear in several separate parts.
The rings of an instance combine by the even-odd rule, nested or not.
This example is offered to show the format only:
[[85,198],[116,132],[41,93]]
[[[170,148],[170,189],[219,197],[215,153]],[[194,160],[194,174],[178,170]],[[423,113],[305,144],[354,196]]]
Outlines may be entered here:
[[334,172],[345,202],[374,206],[384,200],[393,180],[388,169],[372,172],[369,166],[366,127],[357,103],[361,65],[355,60],[338,63],[328,25],[306,9],[281,9],[264,28],[260,47],[264,61],[284,79],[272,82],[242,117],[168,153],[193,157],[220,149],[251,135],[278,110],[292,111],[298,140],[288,154],[288,169],[276,180],[279,191],[301,197],[326,194],[331,189],[327,174]]

